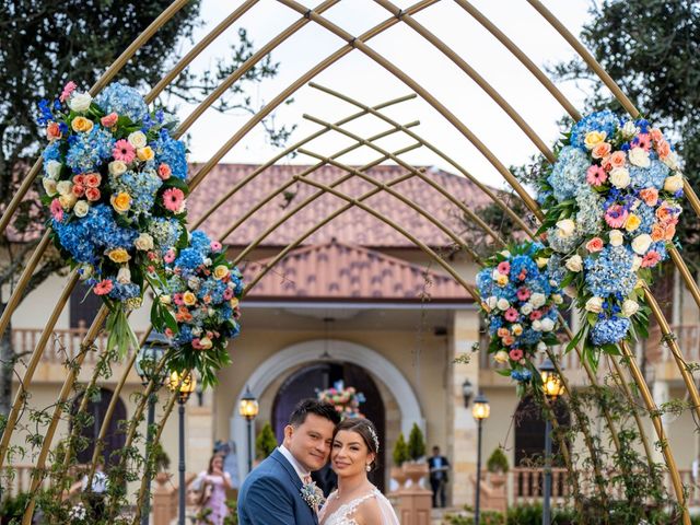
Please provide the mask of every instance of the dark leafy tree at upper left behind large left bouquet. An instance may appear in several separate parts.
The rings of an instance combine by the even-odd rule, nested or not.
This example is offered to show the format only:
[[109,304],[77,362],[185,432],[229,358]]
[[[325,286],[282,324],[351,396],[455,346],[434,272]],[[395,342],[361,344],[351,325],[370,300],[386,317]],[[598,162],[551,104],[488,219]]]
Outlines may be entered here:
[[[171,4],[171,0],[121,2],[112,0],[0,0],[0,211],[7,208],[28,167],[45,144],[44,129],[35,121],[39,98],[52,98],[68,80],[81,89],[92,85],[131,42]],[[191,40],[200,0],[186,4],[165,24],[118,73],[143,92],[153,86],[179,58],[183,40]],[[156,101],[167,106],[178,98],[198,102],[231,71],[253,54],[245,30],[233,46],[229,61],[220,61],[214,71],[197,75],[185,71]],[[277,74],[278,65],[266,57],[244,77],[244,83],[229,90],[218,109],[256,110],[245,95],[246,85]],[[268,128],[273,143],[283,141],[291,130]],[[0,314],[23,266],[44,231],[45,210],[35,192],[22,202],[10,229],[0,236]],[[62,270],[58,254],[48,250],[25,294],[48,276]],[[3,295],[4,294],[4,295]],[[11,329],[0,342],[0,415],[7,413],[11,399],[12,369],[18,357],[11,343]],[[0,421],[1,422],[1,421]],[[1,424],[0,424],[1,430]]]

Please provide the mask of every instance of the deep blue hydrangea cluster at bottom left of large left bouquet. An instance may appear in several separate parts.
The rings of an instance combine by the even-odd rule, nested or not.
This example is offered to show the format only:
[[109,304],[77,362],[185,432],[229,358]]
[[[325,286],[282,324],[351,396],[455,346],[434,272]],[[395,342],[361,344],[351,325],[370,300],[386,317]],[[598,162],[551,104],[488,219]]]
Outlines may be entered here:
[[106,205],[93,206],[82,219],[54,221],[54,230],[74,260],[90,264],[96,262],[105,250],[130,248],[139,236],[138,231],[118,225]]

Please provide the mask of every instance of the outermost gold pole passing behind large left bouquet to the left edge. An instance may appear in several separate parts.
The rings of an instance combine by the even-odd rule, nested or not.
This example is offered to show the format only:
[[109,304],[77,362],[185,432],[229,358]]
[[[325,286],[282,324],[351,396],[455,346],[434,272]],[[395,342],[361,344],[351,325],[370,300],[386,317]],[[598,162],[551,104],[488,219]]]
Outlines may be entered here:
[[[120,70],[126,66],[129,59],[138,51],[143,44],[145,44],[151,37],[163,26],[165,25],[177,12],[187,4],[189,0],[175,0],[170,7],[163,11],[151,24],[141,33],[138,38],[136,38],[129,47],[125,49],[125,51],[117,58],[112,66],[103,73],[103,75],[95,82],[95,84],[90,89],[90,94],[95,96],[102,89],[107,85],[109,82]],[[32,187],[32,183],[34,178],[38,174],[42,168],[42,158],[34,163],[30,173],[24,177],[20,188],[16,194],[3,211],[2,215],[0,215],[0,234],[2,234],[12,217],[14,217],[14,212],[18,210],[20,202],[27,194],[30,188]],[[0,331],[1,332],[1,331]]]

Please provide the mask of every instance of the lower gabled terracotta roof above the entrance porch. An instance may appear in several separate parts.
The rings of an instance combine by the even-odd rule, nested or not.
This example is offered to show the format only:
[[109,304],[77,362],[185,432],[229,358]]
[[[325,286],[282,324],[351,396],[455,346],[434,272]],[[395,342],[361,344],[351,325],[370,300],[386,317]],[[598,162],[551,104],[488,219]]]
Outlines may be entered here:
[[[250,282],[272,258],[244,269]],[[252,289],[248,300],[298,299],[464,301],[471,298],[451,277],[417,264],[337,242],[296,248]]]

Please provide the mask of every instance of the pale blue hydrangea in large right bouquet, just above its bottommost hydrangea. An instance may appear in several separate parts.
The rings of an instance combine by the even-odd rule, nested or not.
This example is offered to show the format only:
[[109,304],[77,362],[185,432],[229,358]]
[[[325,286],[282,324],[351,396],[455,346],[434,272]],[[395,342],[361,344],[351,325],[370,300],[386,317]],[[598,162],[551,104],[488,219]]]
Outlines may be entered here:
[[586,285],[593,295],[607,298],[617,292],[630,294],[637,284],[632,270],[633,254],[625,246],[606,246],[596,259],[584,260]]

